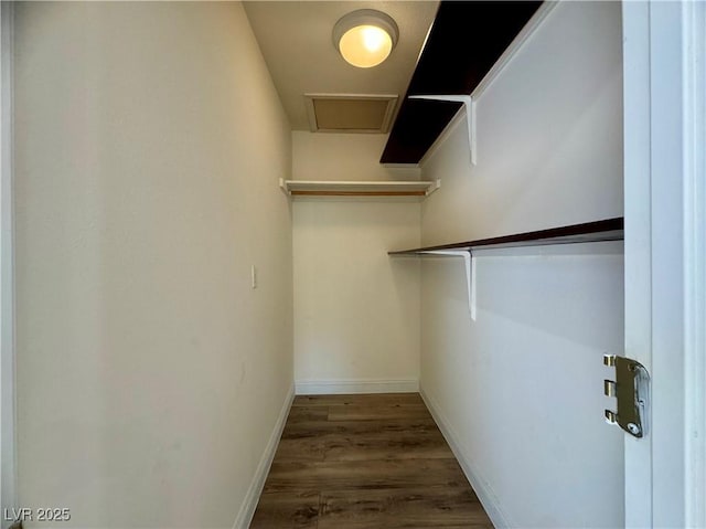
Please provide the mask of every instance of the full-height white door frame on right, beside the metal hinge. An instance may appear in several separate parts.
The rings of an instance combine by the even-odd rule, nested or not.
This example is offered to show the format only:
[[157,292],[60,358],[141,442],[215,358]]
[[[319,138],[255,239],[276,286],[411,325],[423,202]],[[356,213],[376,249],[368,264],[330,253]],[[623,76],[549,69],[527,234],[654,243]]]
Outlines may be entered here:
[[623,2],[625,355],[652,375],[627,527],[706,527],[704,8]]

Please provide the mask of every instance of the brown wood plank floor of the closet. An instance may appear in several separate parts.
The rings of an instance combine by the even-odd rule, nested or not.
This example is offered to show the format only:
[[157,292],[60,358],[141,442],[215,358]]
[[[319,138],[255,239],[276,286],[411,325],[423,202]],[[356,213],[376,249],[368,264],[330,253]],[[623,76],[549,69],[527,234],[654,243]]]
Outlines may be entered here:
[[254,529],[492,523],[418,393],[297,396]]

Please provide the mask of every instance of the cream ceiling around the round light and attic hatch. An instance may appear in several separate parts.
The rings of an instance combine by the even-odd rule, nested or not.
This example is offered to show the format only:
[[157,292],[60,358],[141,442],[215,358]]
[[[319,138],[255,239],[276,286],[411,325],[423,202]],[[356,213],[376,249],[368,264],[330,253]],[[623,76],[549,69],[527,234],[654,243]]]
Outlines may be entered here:
[[[438,4],[438,0],[244,2],[295,130],[309,130],[303,97],[308,93],[397,94],[402,100]],[[399,28],[393,53],[372,68],[351,66],[333,46],[333,25],[357,9],[383,11]]]

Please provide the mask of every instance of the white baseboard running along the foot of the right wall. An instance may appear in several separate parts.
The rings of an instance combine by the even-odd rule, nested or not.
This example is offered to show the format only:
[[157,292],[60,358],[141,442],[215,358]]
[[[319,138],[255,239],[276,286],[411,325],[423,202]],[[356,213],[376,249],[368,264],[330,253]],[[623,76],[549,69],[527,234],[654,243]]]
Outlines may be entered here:
[[475,495],[478,496],[478,499],[481,500],[481,504],[485,509],[485,512],[488,512],[490,520],[493,522],[493,526],[496,529],[518,527],[514,523],[511,523],[510,518],[505,514],[503,514],[498,496],[490,488],[490,485],[488,485],[480,477],[475,467],[471,464],[470,459],[463,453],[461,444],[459,443],[459,435],[451,427],[449,420],[441,412],[441,409],[428,394],[424,392],[422,388],[419,388],[419,394],[429,409],[429,412],[439,426],[439,430],[441,430],[441,434],[443,434],[447,443],[449,443],[451,452],[453,452],[453,455],[461,465],[463,474],[466,474],[466,477],[471,484],[471,487],[473,487],[473,490],[475,490]]

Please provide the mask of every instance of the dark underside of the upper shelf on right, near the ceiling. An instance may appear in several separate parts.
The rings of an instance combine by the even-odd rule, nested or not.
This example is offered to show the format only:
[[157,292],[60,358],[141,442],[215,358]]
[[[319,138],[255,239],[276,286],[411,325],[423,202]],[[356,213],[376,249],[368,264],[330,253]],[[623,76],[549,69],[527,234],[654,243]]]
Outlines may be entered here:
[[381,163],[418,163],[461,107],[461,103],[409,96],[471,94],[541,4],[442,1]]

